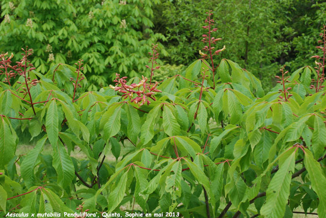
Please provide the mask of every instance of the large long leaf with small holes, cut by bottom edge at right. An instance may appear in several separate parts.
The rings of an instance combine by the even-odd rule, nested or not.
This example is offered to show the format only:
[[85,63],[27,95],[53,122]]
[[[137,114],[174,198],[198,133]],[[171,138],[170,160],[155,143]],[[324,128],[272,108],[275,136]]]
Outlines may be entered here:
[[283,217],[285,206],[290,195],[290,183],[294,171],[295,152],[284,160],[280,169],[271,179],[266,190],[266,202],[260,212],[271,218]]

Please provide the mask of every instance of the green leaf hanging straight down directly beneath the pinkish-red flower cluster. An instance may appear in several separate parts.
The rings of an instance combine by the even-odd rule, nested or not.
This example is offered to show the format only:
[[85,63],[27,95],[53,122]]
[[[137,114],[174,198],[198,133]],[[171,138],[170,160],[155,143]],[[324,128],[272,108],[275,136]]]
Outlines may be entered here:
[[128,137],[132,142],[137,143],[138,134],[141,131],[141,120],[138,112],[131,105],[128,104],[126,109],[128,116]]

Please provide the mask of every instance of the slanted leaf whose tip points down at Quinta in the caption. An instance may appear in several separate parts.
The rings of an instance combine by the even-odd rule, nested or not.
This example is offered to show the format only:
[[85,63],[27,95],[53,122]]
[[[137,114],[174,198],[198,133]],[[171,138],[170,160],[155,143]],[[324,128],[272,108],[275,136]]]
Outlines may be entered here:
[[128,172],[125,172],[120,180],[115,189],[110,193],[108,196],[108,208],[107,212],[110,213],[112,212],[122,201],[124,194],[126,192],[126,184],[127,184],[127,175]]

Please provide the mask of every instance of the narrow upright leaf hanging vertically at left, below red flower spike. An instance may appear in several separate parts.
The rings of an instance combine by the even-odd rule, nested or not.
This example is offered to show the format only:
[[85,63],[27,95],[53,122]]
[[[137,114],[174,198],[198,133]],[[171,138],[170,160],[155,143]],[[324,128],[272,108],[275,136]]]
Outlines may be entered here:
[[45,118],[46,134],[52,146],[57,146],[59,134],[58,125],[59,118],[57,102],[55,100],[52,100],[47,108],[47,114]]

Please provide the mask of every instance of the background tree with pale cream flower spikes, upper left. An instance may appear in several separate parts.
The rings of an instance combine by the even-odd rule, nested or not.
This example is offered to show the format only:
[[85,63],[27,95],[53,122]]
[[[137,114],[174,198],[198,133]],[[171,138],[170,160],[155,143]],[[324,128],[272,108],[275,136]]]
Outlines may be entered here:
[[[89,90],[107,86],[116,72],[140,76],[150,43],[164,40],[151,30],[159,1],[2,1],[1,51],[28,45],[38,72],[58,63],[85,60]],[[166,54],[163,49],[162,52]],[[19,56],[19,52],[15,57]],[[18,61],[18,60],[17,60]]]

